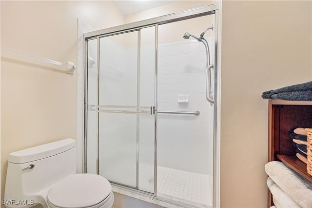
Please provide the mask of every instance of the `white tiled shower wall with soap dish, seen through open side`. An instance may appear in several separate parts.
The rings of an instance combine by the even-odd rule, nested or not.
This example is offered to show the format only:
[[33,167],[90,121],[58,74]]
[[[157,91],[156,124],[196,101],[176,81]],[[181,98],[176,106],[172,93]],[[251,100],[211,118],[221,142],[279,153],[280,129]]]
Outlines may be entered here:
[[[158,110],[200,112],[158,114],[158,166],[212,175],[213,106],[206,100],[205,56],[195,40],[158,46]],[[189,96],[189,103],[178,103],[179,95]]]

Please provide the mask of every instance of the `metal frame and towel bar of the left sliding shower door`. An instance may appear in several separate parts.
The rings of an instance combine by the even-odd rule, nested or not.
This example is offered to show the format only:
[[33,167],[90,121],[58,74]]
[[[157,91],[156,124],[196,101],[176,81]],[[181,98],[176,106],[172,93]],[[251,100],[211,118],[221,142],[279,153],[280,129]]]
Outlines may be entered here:
[[[115,106],[115,105],[100,105],[99,104],[99,53],[100,53],[100,38],[104,38],[104,37],[109,37],[109,36],[114,36],[114,35],[120,35],[120,34],[124,34],[124,33],[129,33],[129,32],[134,32],[134,31],[137,31],[138,32],[138,50],[137,50],[137,53],[138,53],[138,60],[137,60],[137,90],[139,88],[139,71],[140,71],[140,30],[141,29],[144,29],[144,28],[149,28],[149,27],[155,27],[155,102],[154,102],[154,106],[138,106],[138,100],[137,100],[137,106]],[[97,101],[96,101],[96,105],[93,105],[92,107],[95,108],[95,110],[97,111],[97,114],[96,114],[96,120],[97,120],[97,174],[99,174],[99,128],[98,128],[98,125],[99,125],[99,113],[100,112],[105,112],[105,113],[126,113],[126,114],[137,114],[137,131],[138,131],[138,115],[139,114],[150,114],[150,115],[154,115],[155,119],[154,119],[154,124],[155,124],[155,138],[156,138],[156,121],[157,121],[157,115],[156,115],[156,107],[157,107],[157,76],[156,76],[156,57],[157,57],[157,47],[158,47],[158,25],[157,24],[150,24],[150,25],[146,25],[146,26],[141,26],[141,27],[136,27],[136,28],[131,28],[131,29],[127,29],[127,30],[121,30],[121,31],[117,31],[117,32],[113,32],[113,33],[106,33],[106,34],[101,34],[101,35],[98,35],[98,36],[95,36],[95,37],[91,37],[91,38],[85,38],[85,69],[87,69],[88,67],[88,41],[89,40],[97,40]],[[84,34],[85,35],[85,34]],[[83,172],[87,172],[87,109],[88,109],[88,100],[87,100],[87,97],[88,97],[88,83],[87,83],[87,77],[88,77],[88,70],[85,70],[85,83],[84,83],[84,86],[85,86],[85,90],[84,90],[84,106],[85,106],[85,109],[84,109],[84,161],[83,161]],[[137,95],[139,94],[139,91],[137,91]],[[139,99],[139,97],[137,97],[137,99]],[[134,109],[136,108],[137,111],[128,111],[128,110],[102,110],[100,108],[129,108],[129,109]],[[139,111],[139,110],[145,110],[145,111]],[[154,140],[155,141],[155,140]],[[127,188],[127,189],[131,189],[131,190],[136,190],[138,192],[141,192],[141,193],[144,193],[144,194],[149,194],[149,195],[152,195],[152,196],[156,196],[156,184],[154,184],[154,193],[151,193],[151,192],[147,192],[147,191],[143,191],[143,190],[140,190],[138,189],[138,132],[137,132],[137,163],[136,163],[136,171],[137,171],[137,176],[136,176],[136,188],[134,187],[129,187],[127,185],[123,185],[123,184],[118,184],[116,182],[112,182],[110,181],[110,183],[114,184],[115,186],[117,187],[124,187],[124,188]],[[154,144],[155,148],[154,148],[154,164],[156,164],[156,142]],[[156,176],[157,172],[156,172],[156,169],[155,169],[155,165],[154,165],[154,177]]]

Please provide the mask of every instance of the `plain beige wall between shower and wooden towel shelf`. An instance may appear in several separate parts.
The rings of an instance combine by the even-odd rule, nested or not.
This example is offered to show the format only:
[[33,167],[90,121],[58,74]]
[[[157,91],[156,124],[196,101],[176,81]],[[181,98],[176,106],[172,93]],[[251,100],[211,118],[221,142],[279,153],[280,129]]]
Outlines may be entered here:
[[268,101],[311,81],[311,1],[223,1],[221,207],[267,206]]

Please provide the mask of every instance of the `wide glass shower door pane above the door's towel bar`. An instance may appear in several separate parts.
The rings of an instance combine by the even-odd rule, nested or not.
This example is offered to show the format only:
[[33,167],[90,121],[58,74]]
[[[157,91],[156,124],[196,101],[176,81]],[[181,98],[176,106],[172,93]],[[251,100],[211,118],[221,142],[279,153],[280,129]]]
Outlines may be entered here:
[[100,105],[137,106],[137,36],[134,31],[100,38]]

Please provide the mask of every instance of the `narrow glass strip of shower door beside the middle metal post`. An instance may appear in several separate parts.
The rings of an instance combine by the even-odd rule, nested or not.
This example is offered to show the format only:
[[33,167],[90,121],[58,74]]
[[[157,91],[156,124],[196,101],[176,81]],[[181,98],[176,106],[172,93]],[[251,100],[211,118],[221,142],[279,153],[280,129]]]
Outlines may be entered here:
[[[155,105],[155,27],[140,30],[139,104]],[[155,115],[138,117],[138,189],[154,193]]]

